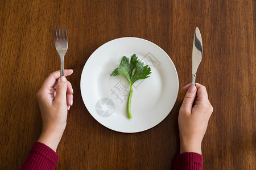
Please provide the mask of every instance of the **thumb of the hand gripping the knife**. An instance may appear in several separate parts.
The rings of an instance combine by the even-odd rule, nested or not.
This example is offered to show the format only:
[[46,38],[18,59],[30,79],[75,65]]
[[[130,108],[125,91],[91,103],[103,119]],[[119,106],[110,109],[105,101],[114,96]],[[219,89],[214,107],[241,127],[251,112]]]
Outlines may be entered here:
[[191,113],[193,102],[194,102],[195,97],[196,97],[196,91],[197,90],[196,90],[195,84],[193,84],[192,86],[190,86],[188,88],[187,94],[185,95],[183,103],[181,105],[181,108],[186,113],[189,113],[189,114]]

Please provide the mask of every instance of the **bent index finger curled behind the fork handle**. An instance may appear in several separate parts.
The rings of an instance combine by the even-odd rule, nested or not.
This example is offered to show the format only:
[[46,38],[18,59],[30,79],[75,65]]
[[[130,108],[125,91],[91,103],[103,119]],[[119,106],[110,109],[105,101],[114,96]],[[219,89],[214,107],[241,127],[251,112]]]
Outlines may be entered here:
[[[64,72],[65,72],[66,76],[69,76],[73,73],[73,70],[72,69],[64,70]],[[60,70],[49,74],[49,76],[46,78],[46,80],[44,80],[42,88],[48,88],[48,87],[55,86],[56,80],[59,78],[60,78]]]

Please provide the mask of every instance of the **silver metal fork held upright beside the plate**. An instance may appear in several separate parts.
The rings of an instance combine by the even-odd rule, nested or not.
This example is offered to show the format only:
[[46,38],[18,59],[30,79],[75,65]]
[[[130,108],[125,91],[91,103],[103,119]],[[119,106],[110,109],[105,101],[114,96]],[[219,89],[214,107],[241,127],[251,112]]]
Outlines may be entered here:
[[64,56],[68,50],[68,35],[67,35],[66,25],[65,25],[65,37],[63,35],[62,25],[61,25],[61,35],[60,35],[60,26],[58,25],[58,33],[57,33],[57,28],[55,26],[55,48],[60,55],[60,76],[64,76]]

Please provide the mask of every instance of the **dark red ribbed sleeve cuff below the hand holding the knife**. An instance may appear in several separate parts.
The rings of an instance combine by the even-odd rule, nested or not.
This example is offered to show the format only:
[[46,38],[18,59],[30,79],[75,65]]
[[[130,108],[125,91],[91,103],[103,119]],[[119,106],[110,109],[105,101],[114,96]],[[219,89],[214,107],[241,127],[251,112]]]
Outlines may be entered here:
[[201,170],[203,156],[195,152],[184,152],[174,159],[174,169]]

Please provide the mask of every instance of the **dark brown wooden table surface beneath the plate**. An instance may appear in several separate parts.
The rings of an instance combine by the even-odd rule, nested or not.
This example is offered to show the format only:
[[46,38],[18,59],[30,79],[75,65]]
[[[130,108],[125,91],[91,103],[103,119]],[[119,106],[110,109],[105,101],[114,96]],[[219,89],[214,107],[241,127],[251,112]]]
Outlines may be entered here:
[[[197,82],[214,111],[203,140],[204,169],[255,169],[255,1],[1,1],[0,169],[18,169],[42,130],[35,94],[59,69],[55,25],[67,25],[65,68],[74,104],[56,169],[170,169],[179,154],[177,117],[191,82],[195,27],[203,36]],[[99,124],[81,98],[90,54],[119,37],[159,45],[174,62],[179,94],[170,114],[141,133]]]

